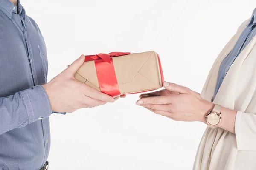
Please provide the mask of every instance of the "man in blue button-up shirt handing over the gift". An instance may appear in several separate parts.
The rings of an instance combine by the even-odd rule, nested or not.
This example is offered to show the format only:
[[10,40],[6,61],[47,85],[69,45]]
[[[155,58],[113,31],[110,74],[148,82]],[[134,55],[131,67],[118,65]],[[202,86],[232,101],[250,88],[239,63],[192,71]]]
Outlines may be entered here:
[[73,77],[84,55],[47,82],[47,51],[19,0],[0,0],[0,170],[47,169],[49,116],[114,102]]

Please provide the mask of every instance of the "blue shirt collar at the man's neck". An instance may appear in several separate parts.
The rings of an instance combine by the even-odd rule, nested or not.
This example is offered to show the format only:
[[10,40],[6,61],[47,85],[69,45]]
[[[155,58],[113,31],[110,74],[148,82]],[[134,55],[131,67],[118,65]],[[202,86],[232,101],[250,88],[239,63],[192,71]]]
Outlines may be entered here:
[[17,6],[15,6],[9,0],[0,0],[0,10],[2,10],[7,17],[12,18],[12,13],[17,13],[19,10],[19,14],[25,19],[26,12],[22,5],[20,4],[20,0],[17,0]]

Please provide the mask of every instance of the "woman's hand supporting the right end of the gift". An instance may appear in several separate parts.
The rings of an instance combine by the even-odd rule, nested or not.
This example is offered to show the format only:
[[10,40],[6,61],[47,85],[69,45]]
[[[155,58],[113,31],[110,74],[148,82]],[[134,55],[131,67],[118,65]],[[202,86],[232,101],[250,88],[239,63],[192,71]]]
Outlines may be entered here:
[[164,82],[164,87],[166,89],[151,93],[152,97],[142,97],[136,104],[173,120],[206,122],[205,115],[212,110],[213,103],[197,92],[174,83]]

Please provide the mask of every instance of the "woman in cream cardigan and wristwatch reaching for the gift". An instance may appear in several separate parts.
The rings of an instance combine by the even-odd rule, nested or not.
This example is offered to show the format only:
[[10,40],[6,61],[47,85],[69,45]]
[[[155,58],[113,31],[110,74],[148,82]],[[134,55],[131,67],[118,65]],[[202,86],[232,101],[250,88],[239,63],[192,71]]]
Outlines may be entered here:
[[256,170],[255,16],[254,10],[221,51],[201,94],[164,82],[165,90],[136,102],[177,121],[208,125],[194,170]]

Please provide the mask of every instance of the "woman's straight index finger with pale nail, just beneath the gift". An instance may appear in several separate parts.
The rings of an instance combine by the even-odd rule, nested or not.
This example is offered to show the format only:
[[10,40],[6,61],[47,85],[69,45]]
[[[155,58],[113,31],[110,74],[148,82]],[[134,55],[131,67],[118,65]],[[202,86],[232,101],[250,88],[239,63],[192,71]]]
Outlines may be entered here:
[[176,95],[172,96],[157,96],[157,97],[146,97],[138,100],[136,105],[146,105],[146,104],[171,104],[174,102]]

